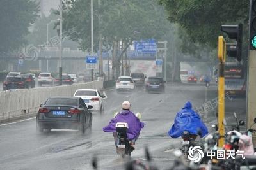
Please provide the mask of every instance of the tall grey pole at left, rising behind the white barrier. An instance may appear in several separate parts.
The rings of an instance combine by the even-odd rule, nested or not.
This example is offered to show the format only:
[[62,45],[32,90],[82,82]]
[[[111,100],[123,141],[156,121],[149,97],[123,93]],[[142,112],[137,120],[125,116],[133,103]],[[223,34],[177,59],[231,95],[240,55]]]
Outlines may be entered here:
[[62,85],[62,0],[60,0],[60,59],[59,59],[59,78]]

